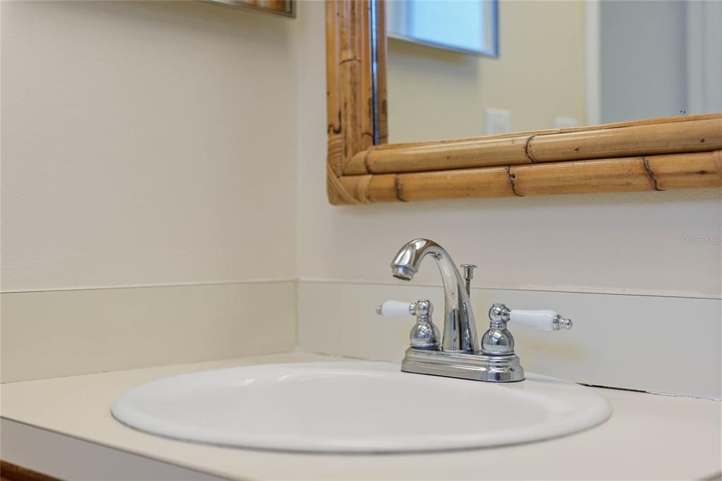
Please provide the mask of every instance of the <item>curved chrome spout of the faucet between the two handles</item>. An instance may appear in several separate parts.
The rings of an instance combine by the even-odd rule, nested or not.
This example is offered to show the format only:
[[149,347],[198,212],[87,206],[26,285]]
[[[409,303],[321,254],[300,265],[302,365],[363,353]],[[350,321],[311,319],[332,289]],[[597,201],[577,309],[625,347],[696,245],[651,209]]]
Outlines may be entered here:
[[456,264],[443,247],[429,239],[407,242],[391,261],[391,274],[401,280],[412,280],[427,255],[436,261],[444,286],[442,350],[478,352],[477,324],[474,321],[474,311],[471,310],[469,294]]

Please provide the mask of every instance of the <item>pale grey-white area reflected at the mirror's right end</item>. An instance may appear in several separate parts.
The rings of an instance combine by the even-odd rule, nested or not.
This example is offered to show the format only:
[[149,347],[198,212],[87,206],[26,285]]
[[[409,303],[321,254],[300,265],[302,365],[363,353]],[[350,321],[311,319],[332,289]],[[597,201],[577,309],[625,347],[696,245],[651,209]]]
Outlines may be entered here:
[[601,122],[721,111],[720,5],[601,1]]

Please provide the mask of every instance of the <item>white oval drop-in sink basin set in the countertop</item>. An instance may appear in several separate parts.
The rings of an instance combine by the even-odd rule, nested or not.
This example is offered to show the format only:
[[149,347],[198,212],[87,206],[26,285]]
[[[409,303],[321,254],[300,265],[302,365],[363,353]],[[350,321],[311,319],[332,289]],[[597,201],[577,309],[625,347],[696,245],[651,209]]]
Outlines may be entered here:
[[547,376],[492,384],[360,361],[186,374],[138,386],[113,404],[121,423],[185,441],[368,453],[539,441],[610,413],[592,389]]

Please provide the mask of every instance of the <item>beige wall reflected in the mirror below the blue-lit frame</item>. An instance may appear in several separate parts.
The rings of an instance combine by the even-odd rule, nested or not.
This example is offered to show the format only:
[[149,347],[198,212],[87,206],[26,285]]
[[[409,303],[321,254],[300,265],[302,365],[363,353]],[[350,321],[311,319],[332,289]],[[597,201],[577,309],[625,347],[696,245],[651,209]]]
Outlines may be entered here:
[[490,107],[510,110],[515,131],[586,123],[584,3],[503,1],[499,22],[499,58],[389,41],[391,142],[482,136]]

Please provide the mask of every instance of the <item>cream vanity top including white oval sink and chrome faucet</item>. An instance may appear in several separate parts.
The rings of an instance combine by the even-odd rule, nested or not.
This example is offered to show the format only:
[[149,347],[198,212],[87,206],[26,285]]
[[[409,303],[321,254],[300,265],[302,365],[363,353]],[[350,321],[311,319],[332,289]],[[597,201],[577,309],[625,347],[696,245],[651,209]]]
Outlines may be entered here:
[[[508,323],[554,332],[573,322],[495,303],[479,341],[472,266],[462,277],[442,246],[419,238],[391,272],[412,280],[423,259],[443,278],[443,337],[429,300],[376,308],[416,316],[401,363],[292,352],[4,385],[7,478],[25,479],[14,464],[67,479],[719,475],[718,401],[526,373]],[[37,472],[30,479],[45,479]]]

